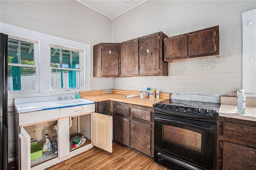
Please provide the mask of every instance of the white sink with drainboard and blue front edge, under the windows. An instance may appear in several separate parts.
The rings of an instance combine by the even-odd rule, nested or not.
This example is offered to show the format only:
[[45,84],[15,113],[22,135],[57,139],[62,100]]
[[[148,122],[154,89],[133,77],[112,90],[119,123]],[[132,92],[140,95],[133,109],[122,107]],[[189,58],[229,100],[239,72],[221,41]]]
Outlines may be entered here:
[[81,106],[87,104],[94,104],[94,101],[82,98],[72,100],[58,100],[57,96],[14,99],[14,106],[18,113]]

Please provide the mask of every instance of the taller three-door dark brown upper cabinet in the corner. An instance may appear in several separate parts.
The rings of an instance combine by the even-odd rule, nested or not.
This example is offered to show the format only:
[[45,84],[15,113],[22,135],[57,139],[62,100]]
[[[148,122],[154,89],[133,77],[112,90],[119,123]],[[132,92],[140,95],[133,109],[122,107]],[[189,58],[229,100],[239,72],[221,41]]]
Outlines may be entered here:
[[93,46],[94,77],[168,76],[162,32],[124,41]]

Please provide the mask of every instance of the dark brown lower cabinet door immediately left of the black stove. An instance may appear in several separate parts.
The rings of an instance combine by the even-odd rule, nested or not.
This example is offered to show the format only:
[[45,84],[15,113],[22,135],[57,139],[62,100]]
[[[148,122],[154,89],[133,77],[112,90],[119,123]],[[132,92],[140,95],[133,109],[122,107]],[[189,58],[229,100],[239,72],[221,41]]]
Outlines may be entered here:
[[151,125],[131,120],[130,147],[150,155]]

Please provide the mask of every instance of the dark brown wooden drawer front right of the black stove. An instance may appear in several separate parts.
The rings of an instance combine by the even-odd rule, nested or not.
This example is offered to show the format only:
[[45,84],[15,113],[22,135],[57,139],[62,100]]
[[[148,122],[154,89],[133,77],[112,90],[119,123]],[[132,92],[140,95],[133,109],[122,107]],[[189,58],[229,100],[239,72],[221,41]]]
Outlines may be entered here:
[[256,143],[256,127],[240,125],[236,123],[223,123],[223,135],[233,139],[240,139]]

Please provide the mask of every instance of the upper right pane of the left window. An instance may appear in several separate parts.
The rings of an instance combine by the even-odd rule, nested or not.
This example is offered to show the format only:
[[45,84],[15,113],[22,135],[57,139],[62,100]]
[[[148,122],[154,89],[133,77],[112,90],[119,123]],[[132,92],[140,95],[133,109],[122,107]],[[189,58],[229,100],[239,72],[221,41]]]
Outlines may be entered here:
[[20,41],[21,63],[34,65],[34,44]]

